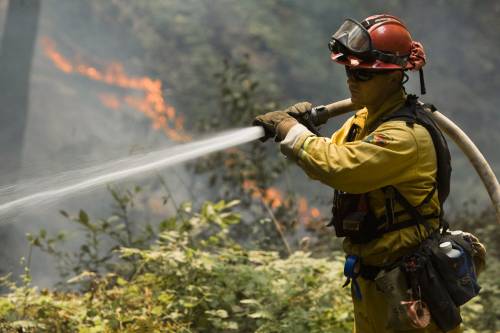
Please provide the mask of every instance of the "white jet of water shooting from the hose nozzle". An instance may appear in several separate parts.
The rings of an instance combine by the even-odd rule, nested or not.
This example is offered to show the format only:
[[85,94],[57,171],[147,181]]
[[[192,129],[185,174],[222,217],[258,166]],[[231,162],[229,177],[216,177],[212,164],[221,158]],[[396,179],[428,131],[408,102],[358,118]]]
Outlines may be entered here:
[[[77,192],[89,191],[103,184],[138,176],[168,166],[186,162],[223,149],[255,141],[264,136],[262,127],[248,127],[223,132],[211,138],[177,145],[159,151],[130,156],[128,158],[72,172],[55,175],[46,180],[39,179],[27,183],[8,186],[0,190],[0,196],[12,195],[23,188],[42,190],[0,204],[0,217],[19,209],[47,204]],[[18,189],[16,189],[16,187]]]

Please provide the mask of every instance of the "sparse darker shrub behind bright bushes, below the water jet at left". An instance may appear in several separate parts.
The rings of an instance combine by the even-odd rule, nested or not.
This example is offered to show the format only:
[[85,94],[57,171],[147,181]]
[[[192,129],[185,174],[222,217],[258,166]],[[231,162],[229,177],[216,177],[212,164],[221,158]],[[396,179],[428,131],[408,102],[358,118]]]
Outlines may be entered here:
[[[82,272],[101,274],[120,270],[124,274],[133,272],[134,262],[116,264],[116,250],[120,247],[145,248],[156,237],[157,231],[149,223],[136,223],[130,219],[129,210],[134,206],[134,198],[140,187],[120,192],[109,187],[114,200],[114,211],[105,219],[92,219],[87,212],[80,210],[74,216],[64,210],[60,213],[68,221],[79,227],[83,241],[74,251],[68,251],[64,244],[68,236],[64,231],[49,236],[41,229],[37,235],[28,234],[32,247],[53,256],[61,278],[78,275]],[[138,227],[140,226],[140,228]]]

